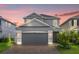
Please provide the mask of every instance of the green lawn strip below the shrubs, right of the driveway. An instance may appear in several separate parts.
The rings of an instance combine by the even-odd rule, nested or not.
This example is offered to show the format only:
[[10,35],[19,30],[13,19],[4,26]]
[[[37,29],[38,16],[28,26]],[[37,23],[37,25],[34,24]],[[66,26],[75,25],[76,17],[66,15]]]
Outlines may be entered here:
[[79,45],[73,45],[71,49],[57,48],[61,54],[79,54]]

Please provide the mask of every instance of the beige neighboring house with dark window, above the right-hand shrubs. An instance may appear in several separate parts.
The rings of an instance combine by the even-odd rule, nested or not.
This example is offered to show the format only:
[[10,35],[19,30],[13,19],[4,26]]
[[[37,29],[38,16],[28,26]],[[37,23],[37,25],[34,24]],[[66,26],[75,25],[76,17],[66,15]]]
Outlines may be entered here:
[[67,21],[60,25],[62,31],[78,30],[79,27],[79,16],[69,18]]

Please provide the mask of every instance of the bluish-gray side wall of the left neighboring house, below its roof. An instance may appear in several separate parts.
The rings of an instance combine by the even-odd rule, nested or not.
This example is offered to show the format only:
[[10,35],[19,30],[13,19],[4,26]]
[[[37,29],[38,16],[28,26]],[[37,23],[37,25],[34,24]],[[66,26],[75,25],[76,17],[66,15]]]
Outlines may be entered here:
[[9,34],[11,37],[15,38],[16,36],[16,26],[12,25],[11,23],[8,23],[4,20],[1,21],[1,27],[2,27],[2,36],[8,37]]

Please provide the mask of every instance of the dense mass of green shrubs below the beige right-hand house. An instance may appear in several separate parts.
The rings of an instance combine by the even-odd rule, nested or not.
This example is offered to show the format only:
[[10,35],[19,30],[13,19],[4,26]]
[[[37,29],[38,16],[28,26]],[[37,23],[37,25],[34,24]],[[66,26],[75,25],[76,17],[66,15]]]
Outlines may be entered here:
[[59,47],[71,48],[73,44],[79,45],[79,33],[75,30],[60,32],[58,34]]

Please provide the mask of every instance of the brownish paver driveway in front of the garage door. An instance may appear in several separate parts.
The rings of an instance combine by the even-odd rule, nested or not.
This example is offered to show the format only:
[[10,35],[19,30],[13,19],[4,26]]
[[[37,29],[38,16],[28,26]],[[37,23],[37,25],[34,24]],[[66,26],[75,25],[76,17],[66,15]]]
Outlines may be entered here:
[[4,54],[58,54],[59,52],[55,46],[47,45],[26,45],[17,46],[14,45],[10,49],[4,52]]

